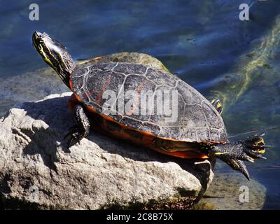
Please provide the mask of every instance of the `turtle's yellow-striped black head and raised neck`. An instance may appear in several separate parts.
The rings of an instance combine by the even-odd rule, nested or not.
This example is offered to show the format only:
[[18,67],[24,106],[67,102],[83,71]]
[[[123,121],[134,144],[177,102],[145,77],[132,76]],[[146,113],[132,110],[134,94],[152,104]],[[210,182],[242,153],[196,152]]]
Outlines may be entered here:
[[70,76],[76,65],[64,45],[48,34],[41,34],[38,31],[35,31],[32,35],[32,42],[34,48],[43,57],[43,60],[52,69],[55,69],[60,78],[69,87]]

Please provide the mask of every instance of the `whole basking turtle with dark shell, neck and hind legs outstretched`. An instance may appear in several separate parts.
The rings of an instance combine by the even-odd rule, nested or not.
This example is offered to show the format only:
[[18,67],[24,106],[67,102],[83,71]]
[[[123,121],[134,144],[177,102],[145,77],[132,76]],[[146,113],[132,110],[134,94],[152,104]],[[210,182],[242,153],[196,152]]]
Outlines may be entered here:
[[68,106],[76,122],[64,137],[68,147],[93,129],[166,155],[220,159],[248,180],[244,161],[265,159],[263,134],[231,142],[217,110],[221,104],[172,73],[133,62],[76,66],[66,47],[48,34],[35,31],[32,43],[73,92]]

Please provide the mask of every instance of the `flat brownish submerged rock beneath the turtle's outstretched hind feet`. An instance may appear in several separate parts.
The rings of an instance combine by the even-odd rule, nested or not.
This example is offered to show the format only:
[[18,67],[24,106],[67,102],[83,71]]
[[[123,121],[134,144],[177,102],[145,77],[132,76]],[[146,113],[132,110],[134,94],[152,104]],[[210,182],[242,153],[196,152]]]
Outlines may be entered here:
[[242,174],[215,173],[211,187],[195,209],[258,210],[265,204],[265,186],[254,179],[247,181]]

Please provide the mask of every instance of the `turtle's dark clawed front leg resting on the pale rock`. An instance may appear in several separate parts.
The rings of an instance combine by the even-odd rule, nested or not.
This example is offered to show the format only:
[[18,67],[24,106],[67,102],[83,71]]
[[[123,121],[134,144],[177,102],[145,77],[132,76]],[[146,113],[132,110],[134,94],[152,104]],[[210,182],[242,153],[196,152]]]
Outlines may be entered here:
[[64,139],[66,139],[66,137],[70,136],[68,148],[76,143],[80,144],[80,140],[87,137],[90,133],[90,121],[88,120],[83,107],[80,104],[77,104],[73,107],[73,112],[76,118],[76,124],[70,127],[69,132],[64,137]]

